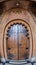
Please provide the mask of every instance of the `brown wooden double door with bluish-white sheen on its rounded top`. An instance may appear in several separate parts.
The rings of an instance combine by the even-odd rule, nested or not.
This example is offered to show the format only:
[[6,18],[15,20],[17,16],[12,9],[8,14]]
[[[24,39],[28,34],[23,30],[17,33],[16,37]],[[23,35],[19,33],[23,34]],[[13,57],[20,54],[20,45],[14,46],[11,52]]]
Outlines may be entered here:
[[7,56],[12,60],[23,60],[29,57],[27,29],[22,24],[14,24],[7,32]]

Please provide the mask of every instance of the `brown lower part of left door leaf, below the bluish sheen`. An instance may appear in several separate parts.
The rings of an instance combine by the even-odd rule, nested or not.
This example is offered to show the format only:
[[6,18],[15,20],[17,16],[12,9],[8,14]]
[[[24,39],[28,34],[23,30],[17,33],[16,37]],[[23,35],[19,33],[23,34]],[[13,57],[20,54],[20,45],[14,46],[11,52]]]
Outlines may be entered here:
[[12,37],[8,39],[8,58],[9,59],[17,59],[18,58],[18,47],[17,47],[17,37],[15,38],[15,34],[12,34]]

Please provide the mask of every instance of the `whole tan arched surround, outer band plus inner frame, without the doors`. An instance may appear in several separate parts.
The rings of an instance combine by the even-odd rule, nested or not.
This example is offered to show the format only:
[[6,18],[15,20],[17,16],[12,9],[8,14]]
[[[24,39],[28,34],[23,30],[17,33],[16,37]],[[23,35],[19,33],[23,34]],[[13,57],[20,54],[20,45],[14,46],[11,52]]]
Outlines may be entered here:
[[31,14],[27,10],[24,10],[23,8],[13,8],[13,9],[6,11],[3,14],[2,20],[1,20],[1,29],[2,30],[0,29],[0,31],[2,34],[0,34],[0,43],[1,43],[1,55],[2,55],[2,57],[7,58],[6,33],[8,30],[8,27],[9,28],[11,27],[10,24],[16,24],[16,23],[19,24],[19,22],[21,24],[25,24],[25,26],[27,26],[27,29],[29,30],[29,35],[30,35],[29,36],[30,37],[29,58],[31,56],[35,55],[35,46],[36,46],[35,27],[36,26],[35,26],[34,20],[31,16]]

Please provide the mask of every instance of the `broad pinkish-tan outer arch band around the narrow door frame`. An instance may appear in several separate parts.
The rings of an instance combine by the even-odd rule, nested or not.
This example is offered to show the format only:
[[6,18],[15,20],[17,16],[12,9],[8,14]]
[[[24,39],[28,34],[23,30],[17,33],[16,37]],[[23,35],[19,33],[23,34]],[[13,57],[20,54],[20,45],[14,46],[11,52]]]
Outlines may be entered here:
[[[35,31],[35,23],[33,21],[32,16],[30,15],[30,13],[28,11],[26,11],[24,9],[20,9],[20,11],[18,11],[18,10],[19,10],[19,8],[15,9],[15,10],[12,9],[10,11],[7,11],[5,13],[5,15],[3,16],[2,20],[1,20],[2,24],[3,24],[3,25],[1,24],[2,25],[2,35],[1,35],[2,39],[3,39],[3,32],[4,32],[4,28],[5,28],[6,24],[9,23],[9,21],[14,20],[14,19],[22,19],[22,20],[26,21],[31,27],[32,36],[34,38],[33,33]],[[33,22],[33,24],[32,24],[32,22]],[[33,29],[34,29],[34,31],[33,31]],[[34,41],[33,41],[33,43],[34,43]],[[3,42],[1,40],[1,49],[2,49],[1,53],[2,53],[2,56],[4,57],[4,50],[3,50],[2,45],[3,45]],[[31,50],[32,50],[32,46],[31,46]],[[34,49],[33,49],[33,51],[34,51]],[[31,53],[32,53],[32,51],[31,51]],[[30,53],[30,57],[31,57],[31,53]],[[5,57],[6,57],[6,52],[5,52]]]

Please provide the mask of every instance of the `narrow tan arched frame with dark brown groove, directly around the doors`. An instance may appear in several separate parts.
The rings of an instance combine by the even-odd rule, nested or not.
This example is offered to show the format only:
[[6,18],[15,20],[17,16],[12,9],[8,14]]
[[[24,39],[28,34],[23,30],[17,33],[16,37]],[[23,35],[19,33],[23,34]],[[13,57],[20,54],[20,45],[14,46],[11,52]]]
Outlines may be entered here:
[[[15,22],[16,21],[16,22]],[[20,22],[17,22],[17,21],[20,21]],[[22,19],[14,19],[14,20],[12,20],[12,21],[10,21],[10,22],[8,22],[7,23],[7,25],[5,26],[5,28],[4,28],[4,34],[3,34],[3,47],[4,47],[4,56],[7,58],[7,52],[6,52],[6,40],[5,40],[5,33],[6,33],[6,31],[7,31],[7,29],[8,29],[8,26],[10,26],[11,25],[11,23],[12,23],[12,25],[15,23],[22,23],[22,24],[25,24],[27,27],[28,27],[28,29],[29,29],[29,32],[30,32],[30,53],[29,53],[29,58],[32,56],[32,54],[33,54],[33,37],[32,37],[32,30],[31,30],[31,27],[30,27],[30,25],[26,22],[26,21],[24,21],[24,20],[22,20]]]

